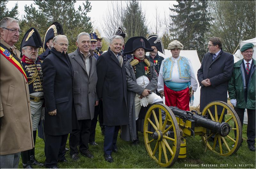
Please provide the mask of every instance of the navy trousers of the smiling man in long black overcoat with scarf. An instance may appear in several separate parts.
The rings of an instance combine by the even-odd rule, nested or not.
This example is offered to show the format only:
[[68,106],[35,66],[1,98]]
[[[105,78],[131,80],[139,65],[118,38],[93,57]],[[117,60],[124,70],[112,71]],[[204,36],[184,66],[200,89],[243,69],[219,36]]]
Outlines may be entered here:
[[111,155],[113,149],[116,149],[116,141],[120,126],[106,126],[104,139],[104,152]]

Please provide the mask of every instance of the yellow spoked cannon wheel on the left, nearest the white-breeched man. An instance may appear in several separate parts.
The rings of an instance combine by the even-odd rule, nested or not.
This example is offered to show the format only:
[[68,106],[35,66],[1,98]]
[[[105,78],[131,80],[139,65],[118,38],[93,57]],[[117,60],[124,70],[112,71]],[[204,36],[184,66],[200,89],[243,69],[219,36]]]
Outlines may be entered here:
[[[161,111],[165,112],[162,119]],[[180,153],[180,129],[172,110],[164,104],[149,107],[144,121],[144,143],[159,165],[171,166]]]

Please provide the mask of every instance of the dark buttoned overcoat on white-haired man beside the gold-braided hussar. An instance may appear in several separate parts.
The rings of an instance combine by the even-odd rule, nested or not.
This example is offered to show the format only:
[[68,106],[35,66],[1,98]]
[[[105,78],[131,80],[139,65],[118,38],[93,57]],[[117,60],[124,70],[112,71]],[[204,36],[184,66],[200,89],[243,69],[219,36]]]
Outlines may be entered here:
[[[45,99],[44,132],[53,136],[65,135],[77,126],[73,102],[73,72],[68,54],[51,49],[42,64]],[[56,115],[48,112],[57,109]]]

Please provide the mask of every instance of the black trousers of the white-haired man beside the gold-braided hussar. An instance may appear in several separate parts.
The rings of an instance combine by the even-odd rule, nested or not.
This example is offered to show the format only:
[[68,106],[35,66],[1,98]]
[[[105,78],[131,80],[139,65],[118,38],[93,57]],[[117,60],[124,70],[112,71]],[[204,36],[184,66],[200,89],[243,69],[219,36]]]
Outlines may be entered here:
[[65,159],[65,146],[67,143],[68,134],[61,136],[52,136],[45,134],[45,167],[57,166],[58,160]]

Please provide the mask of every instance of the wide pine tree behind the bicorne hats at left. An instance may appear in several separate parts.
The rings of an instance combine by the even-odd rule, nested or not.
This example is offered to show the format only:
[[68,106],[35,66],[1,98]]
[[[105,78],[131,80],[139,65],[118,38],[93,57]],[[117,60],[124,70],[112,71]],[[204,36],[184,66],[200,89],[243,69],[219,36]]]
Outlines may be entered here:
[[76,49],[76,37],[81,32],[92,32],[91,18],[87,16],[87,12],[92,9],[91,3],[86,0],[83,6],[75,9],[75,0],[71,1],[39,1],[34,0],[30,6],[25,6],[24,20],[21,25],[24,26],[24,31],[29,27],[35,27],[40,33],[42,40],[53,22],[59,22],[63,27],[63,32],[68,36],[69,52]]

